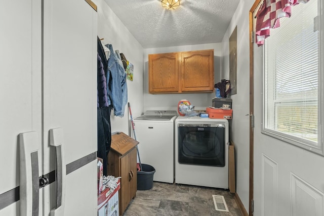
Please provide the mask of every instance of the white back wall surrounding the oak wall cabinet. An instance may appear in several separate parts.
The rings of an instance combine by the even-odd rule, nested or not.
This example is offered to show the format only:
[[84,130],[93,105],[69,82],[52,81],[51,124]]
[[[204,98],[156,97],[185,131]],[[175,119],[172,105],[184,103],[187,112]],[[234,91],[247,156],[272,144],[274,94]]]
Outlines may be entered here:
[[212,105],[213,93],[186,93],[186,94],[149,94],[148,93],[148,55],[155,53],[192,51],[203,49],[214,49],[214,83],[220,82],[221,69],[221,43],[208,43],[185,46],[170,46],[162,48],[144,49],[144,111],[146,110],[177,110],[178,102],[181,99],[187,99],[195,105],[195,110],[206,110],[206,107]]

